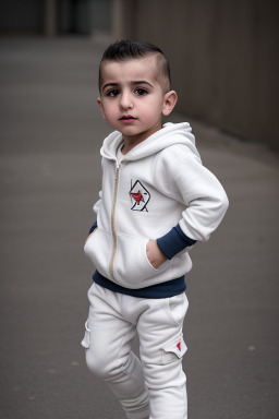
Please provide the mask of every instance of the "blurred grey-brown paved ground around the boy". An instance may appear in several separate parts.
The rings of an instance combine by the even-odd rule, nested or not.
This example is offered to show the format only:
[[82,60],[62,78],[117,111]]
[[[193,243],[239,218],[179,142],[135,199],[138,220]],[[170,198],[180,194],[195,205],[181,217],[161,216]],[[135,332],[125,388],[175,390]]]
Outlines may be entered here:
[[[80,347],[93,273],[83,242],[108,132],[95,104],[102,49],[86,38],[0,41],[3,419],[123,418]],[[192,124],[230,210],[192,253],[184,327],[190,419],[276,419],[278,159]]]

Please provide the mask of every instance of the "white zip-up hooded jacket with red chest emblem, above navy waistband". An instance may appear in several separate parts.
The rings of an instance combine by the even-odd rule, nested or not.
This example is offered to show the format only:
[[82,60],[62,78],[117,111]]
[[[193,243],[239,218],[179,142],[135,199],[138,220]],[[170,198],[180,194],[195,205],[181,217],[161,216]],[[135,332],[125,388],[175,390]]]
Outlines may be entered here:
[[[121,287],[140,289],[183,276],[192,267],[191,243],[208,240],[228,208],[191,131],[186,122],[166,123],[121,164],[122,134],[114,131],[104,141],[102,190],[94,205],[98,229],[84,250],[98,273]],[[187,244],[177,246],[175,226]],[[157,239],[168,256],[158,270],[146,255],[147,242]]]

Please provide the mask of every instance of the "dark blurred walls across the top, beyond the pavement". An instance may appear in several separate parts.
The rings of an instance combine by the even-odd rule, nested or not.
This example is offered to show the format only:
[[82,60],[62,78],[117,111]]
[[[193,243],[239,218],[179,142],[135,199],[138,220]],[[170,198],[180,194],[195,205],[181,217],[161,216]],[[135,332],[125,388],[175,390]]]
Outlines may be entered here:
[[0,32],[148,39],[172,63],[178,109],[278,149],[274,0],[10,0]]

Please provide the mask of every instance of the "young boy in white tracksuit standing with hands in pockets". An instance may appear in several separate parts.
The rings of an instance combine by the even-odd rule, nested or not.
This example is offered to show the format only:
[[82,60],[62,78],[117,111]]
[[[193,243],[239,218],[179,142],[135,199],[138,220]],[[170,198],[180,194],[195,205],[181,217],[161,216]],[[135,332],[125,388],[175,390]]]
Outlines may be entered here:
[[[85,253],[97,271],[82,345],[130,419],[186,419],[182,357],[189,250],[221,222],[227,195],[201,163],[189,123],[166,123],[178,96],[162,51],[121,40],[105,51],[97,103],[102,191]],[[141,360],[131,350],[138,333]]]

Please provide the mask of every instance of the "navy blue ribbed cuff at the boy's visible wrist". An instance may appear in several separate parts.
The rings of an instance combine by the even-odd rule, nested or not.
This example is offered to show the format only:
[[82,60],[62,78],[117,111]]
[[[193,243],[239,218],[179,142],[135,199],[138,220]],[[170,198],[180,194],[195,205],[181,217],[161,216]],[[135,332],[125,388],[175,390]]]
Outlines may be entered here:
[[187,248],[189,246],[195,244],[196,240],[191,239],[181,230],[180,225],[178,224],[173,227],[167,235],[157,239],[157,244],[160,251],[165,254],[166,258],[172,259]]

